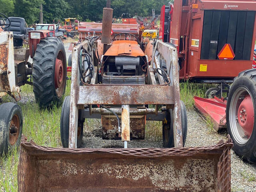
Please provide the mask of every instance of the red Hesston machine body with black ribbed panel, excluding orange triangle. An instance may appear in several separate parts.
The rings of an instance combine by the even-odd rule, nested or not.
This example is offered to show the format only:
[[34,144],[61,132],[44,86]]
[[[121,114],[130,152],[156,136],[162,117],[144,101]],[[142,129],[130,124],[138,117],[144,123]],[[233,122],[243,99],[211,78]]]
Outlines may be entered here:
[[[161,10],[159,36],[179,50],[180,79],[231,83],[252,68],[256,36],[253,0],[182,0]],[[234,59],[219,59],[230,44]]]

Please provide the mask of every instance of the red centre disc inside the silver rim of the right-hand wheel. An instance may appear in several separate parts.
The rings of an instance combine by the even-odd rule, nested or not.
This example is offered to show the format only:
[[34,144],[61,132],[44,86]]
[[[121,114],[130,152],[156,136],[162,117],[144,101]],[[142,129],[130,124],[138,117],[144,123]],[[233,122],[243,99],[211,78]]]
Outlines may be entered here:
[[250,138],[254,126],[254,108],[252,98],[248,94],[244,97],[238,108],[238,123],[244,134]]

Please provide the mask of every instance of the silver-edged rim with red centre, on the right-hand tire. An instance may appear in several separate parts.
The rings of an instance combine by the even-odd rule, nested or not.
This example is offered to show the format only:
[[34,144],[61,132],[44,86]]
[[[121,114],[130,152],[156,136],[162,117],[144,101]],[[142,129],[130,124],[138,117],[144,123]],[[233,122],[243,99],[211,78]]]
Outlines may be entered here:
[[246,88],[240,87],[234,92],[230,103],[230,131],[236,142],[246,144],[254,126],[252,96]]

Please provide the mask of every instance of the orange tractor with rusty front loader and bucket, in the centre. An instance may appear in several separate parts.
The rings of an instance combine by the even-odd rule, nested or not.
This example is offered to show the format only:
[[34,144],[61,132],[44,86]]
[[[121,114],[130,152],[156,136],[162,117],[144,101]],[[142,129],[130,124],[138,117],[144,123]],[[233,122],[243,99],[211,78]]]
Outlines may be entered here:
[[[156,40],[143,52],[126,32],[112,39],[112,14],[108,0],[101,40],[87,38],[72,50],[71,94],[60,120],[64,148],[22,142],[18,191],[230,191],[230,139],[183,147],[177,49]],[[103,138],[121,139],[124,148],[79,148],[85,118],[100,118]],[[163,122],[166,148],[129,148],[130,139],[144,139],[146,120]]]

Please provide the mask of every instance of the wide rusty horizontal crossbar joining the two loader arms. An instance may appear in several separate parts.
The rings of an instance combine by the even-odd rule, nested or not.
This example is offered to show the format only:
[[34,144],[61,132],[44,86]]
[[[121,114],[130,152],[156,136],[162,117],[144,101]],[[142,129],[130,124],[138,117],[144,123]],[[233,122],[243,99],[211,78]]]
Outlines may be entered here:
[[172,86],[90,85],[79,87],[77,104],[174,104],[173,96]]

